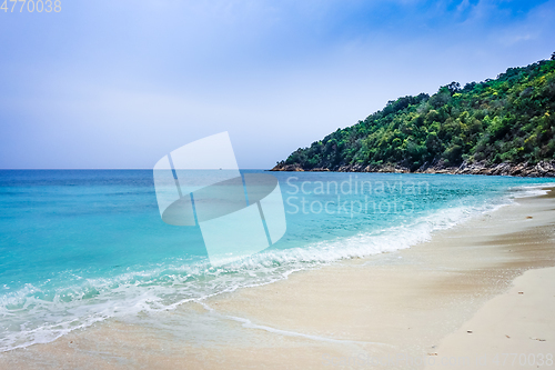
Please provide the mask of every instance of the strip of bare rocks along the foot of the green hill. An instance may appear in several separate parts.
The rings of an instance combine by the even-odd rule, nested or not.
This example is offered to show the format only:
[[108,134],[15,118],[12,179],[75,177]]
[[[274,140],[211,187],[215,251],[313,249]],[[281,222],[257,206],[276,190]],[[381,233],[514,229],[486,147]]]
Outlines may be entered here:
[[[313,171],[324,172],[332,171],[327,168],[313,168],[305,170],[299,164],[278,163],[270,171]],[[555,160],[547,162],[542,161],[538,163],[498,163],[487,166],[484,162],[463,162],[458,167],[448,167],[443,161],[437,163],[424,163],[416,171],[411,171],[407,167],[400,164],[379,164],[379,166],[362,166],[362,164],[346,164],[333,169],[335,172],[381,172],[381,173],[448,173],[448,174],[486,174],[486,176],[515,176],[515,177],[531,177],[544,178],[555,177]]]

